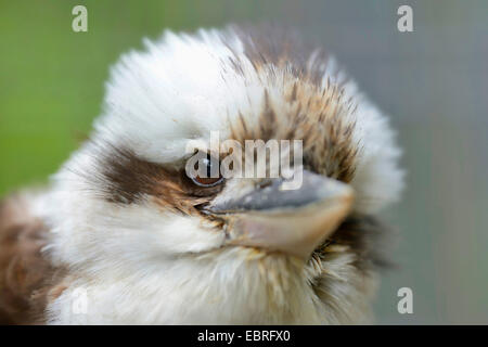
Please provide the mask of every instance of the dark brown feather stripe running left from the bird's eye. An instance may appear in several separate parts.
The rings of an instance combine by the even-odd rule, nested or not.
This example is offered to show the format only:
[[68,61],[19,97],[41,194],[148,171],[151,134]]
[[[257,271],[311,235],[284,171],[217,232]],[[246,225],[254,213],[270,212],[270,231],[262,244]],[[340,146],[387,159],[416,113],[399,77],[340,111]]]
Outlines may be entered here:
[[183,214],[207,203],[221,187],[198,187],[184,169],[176,169],[138,157],[132,151],[107,143],[97,144],[95,167],[76,172],[94,187],[94,194],[116,204],[151,198],[159,206]]

